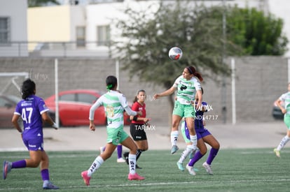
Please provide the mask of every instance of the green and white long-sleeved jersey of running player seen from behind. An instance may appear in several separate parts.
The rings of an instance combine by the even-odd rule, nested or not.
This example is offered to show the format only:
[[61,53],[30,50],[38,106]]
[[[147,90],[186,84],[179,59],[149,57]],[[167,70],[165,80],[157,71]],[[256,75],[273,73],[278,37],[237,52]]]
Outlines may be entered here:
[[94,119],[95,110],[99,106],[104,106],[107,119],[107,128],[120,128],[124,125],[124,110],[129,115],[137,115],[137,112],[130,110],[127,105],[127,99],[118,91],[108,91],[97,99],[96,103],[90,108],[90,120]]

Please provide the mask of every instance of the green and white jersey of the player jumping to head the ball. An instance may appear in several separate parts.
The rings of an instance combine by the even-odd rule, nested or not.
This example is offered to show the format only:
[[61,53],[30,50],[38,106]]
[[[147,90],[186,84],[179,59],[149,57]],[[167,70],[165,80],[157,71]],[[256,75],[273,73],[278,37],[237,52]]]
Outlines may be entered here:
[[191,80],[186,80],[183,75],[175,80],[173,87],[177,87],[177,101],[184,105],[191,105],[191,101],[195,100],[196,90],[201,89],[197,78],[192,77]]

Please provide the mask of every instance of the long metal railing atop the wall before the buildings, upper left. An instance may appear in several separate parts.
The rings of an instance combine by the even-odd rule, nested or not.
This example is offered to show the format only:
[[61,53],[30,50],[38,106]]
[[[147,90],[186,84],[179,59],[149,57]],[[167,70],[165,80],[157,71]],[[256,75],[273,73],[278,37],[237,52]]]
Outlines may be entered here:
[[0,43],[0,57],[110,57],[108,42]]

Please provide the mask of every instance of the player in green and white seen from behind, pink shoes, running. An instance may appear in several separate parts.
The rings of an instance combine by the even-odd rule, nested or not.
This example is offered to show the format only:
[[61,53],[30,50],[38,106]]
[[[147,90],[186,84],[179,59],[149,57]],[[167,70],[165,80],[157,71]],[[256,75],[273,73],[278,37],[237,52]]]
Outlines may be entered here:
[[90,178],[92,174],[99,169],[99,167],[106,161],[106,159],[111,157],[111,154],[115,151],[117,145],[120,143],[130,149],[129,154],[129,180],[143,180],[144,177],[141,177],[137,174],[136,170],[136,153],[137,145],[134,143],[132,138],[129,137],[127,133],[123,130],[124,120],[123,112],[124,110],[128,115],[142,115],[142,112],[135,112],[130,109],[127,105],[127,99],[123,94],[120,94],[117,91],[118,83],[115,76],[106,77],[106,89],[109,91],[97,99],[96,103],[90,108],[90,130],[95,131],[94,124],[94,114],[95,110],[99,106],[104,106],[107,118],[106,126],[106,149],[104,153],[100,154],[95,158],[95,161],[92,162],[92,165],[88,170],[81,172],[81,177],[83,181],[88,186],[90,185]]

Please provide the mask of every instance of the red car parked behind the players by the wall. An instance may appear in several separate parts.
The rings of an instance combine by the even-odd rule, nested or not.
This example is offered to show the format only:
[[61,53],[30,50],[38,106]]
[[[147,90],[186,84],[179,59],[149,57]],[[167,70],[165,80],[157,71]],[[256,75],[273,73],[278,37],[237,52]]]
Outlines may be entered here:
[[[92,89],[75,89],[61,91],[59,93],[59,118],[61,126],[84,126],[89,125],[88,119],[90,107],[97,99],[102,96],[102,92]],[[44,101],[50,109],[50,116],[55,119],[55,95],[46,98]],[[95,110],[95,125],[106,125],[106,115],[104,107]],[[130,124],[130,119],[124,113],[125,125]]]

